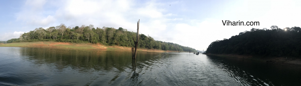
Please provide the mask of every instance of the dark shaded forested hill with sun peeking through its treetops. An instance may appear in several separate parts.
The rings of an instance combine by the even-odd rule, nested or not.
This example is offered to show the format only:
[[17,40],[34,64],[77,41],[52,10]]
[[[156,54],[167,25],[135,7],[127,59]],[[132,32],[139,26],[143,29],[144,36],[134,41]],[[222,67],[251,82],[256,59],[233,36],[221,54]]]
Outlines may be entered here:
[[271,29],[252,28],[229,39],[212,42],[206,53],[300,57],[301,28],[280,29],[278,26],[271,26]]

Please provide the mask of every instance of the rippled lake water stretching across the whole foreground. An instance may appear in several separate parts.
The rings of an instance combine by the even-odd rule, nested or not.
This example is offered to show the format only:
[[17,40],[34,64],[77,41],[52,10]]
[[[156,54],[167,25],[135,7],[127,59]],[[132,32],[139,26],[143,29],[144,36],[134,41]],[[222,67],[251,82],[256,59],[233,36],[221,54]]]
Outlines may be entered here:
[[189,53],[0,47],[0,86],[300,86],[301,67]]

